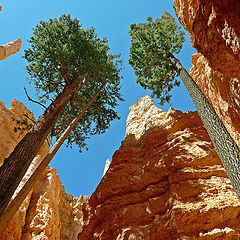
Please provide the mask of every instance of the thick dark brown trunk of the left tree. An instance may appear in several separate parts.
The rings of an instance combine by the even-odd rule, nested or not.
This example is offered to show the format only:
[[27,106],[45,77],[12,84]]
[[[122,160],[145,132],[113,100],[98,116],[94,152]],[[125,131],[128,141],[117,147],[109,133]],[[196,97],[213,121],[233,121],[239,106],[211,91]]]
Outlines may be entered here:
[[0,167],[0,216],[11,200],[33,158],[54,127],[59,115],[78,89],[81,78],[67,87],[56,97],[39,117],[32,129],[18,143],[13,152]]

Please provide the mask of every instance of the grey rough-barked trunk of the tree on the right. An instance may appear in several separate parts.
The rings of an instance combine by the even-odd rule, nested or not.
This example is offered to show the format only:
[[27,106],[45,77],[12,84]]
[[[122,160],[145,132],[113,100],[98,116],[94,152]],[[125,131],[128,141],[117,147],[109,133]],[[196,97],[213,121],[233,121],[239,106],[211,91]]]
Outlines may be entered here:
[[240,149],[180,61],[171,53],[170,60],[179,72],[240,200]]

